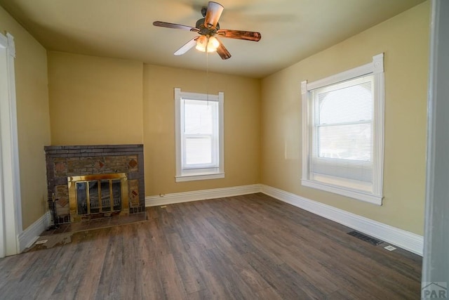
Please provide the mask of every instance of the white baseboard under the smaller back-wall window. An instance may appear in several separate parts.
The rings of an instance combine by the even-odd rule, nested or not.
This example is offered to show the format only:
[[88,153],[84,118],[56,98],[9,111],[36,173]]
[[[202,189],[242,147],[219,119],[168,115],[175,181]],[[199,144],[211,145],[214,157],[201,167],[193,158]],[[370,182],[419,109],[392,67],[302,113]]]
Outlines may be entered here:
[[208,200],[222,197],[232,197],[237,195],[248,195],[254,193],[260,193],[261,185],[242,185],[232,188],[214,188],[211,190],[196,190],[193,192],[185,193],[173,193],[159,196],[147,196],[145,197],[146,207],[156,207],[159,205],[175,204],[182,202]]

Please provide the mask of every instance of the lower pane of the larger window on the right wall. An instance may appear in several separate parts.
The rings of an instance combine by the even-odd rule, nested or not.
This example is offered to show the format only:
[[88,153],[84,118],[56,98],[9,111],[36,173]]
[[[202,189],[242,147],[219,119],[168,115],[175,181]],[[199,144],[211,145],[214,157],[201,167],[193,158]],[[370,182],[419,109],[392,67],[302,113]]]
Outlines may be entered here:
[[372,136],[371,124],[320,126],[318,155],[319,157],[371,161]]

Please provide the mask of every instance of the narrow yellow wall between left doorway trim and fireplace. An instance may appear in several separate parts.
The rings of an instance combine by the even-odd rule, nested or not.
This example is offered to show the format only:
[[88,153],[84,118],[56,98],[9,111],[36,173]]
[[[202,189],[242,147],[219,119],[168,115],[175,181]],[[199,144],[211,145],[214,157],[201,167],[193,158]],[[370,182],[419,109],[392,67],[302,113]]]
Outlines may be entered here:
[[[15,41],[15,90],[22,227],[46,212],[46,166],[43,146],[50,143],[46,50],[0,7],[0,32]],[[2,66],[3,67],[3,66]]]

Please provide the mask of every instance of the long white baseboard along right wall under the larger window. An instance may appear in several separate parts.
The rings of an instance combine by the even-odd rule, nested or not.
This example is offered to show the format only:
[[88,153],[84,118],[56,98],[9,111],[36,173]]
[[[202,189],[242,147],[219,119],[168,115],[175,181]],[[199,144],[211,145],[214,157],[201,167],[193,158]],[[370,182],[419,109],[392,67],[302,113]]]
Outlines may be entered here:
[[348,211],[337,209],[327,204],[309,200],[267,185],[262,185],[262,193],[422,256],[424,249],[424,237],[422,235],[410,233],[406,230],[373,221],[363,216],[351,214]]

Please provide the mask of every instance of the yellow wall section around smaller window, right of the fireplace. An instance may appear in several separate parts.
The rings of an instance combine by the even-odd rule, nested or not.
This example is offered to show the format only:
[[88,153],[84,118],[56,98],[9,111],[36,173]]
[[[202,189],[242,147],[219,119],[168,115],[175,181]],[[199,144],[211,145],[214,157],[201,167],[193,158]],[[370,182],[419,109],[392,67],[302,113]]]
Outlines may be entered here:
[[[175,183],[175,87],[225,93],[225,178]],[[147,195],[260,183],[260,80],[145,65],[144,116]]]

